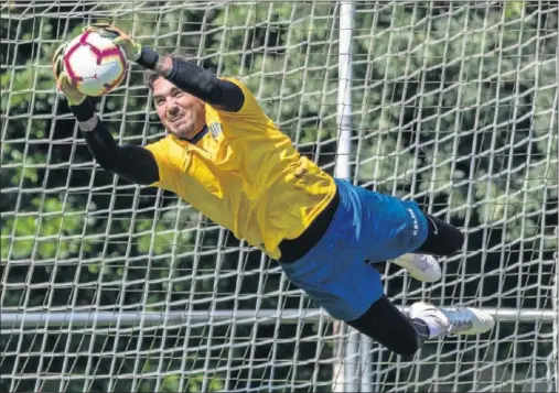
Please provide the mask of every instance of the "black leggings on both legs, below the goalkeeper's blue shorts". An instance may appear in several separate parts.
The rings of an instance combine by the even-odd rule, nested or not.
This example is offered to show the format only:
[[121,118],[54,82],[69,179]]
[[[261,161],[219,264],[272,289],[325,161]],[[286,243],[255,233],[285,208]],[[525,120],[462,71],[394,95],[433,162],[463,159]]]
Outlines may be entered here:
[[[436,217],[427,216],[429,234],[415,253],[450,255],[460,250],[464,234]],[[421,319],[410,319],[386,297],[380,297],[359,318],[347,324],[378,341],[389,350],[412,356],[429,338],[429,328]]]

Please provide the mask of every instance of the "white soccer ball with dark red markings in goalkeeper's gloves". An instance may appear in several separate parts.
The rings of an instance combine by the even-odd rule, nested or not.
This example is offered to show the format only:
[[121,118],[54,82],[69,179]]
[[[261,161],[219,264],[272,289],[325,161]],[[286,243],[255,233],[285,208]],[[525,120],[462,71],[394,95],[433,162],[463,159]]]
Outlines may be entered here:
[[98,97],[114,90],[126,75],[122,51],[97,32],[84,32],[66,46],[64,70],[84,95]]

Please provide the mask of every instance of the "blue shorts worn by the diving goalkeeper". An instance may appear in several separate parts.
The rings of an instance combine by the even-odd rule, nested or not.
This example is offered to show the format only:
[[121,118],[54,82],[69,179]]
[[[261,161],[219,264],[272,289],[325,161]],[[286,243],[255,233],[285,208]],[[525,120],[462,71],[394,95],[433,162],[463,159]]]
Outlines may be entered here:
[[280,263],[299,288],[341,320],[361,317],[384,292],[366,263],[416,251],[427,239],[427,218],[413,201],[336,179],[340,205],[322,239],[300,260]]

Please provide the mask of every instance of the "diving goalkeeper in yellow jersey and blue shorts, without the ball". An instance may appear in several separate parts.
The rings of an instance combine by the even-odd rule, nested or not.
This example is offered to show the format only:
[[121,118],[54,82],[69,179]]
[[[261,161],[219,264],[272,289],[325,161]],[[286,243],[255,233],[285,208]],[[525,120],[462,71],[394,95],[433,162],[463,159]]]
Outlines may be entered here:
[[441,279],[434,256],[462,248],[453,226],[416,203],[367,190],[301,156],[247,87],[176,55],[160,55],[108,24],[111,37],[146,68],[166,137],[146,146],[118,145],[88,97],[53,58],[61,90],[97,163],[129,182],[175,193],[216,223],[276,260],[284,274],[332,317],[399,353],[428,339],[476,335],[494,326],[470,307],[415,303],[409,316],[383,291],[373,264],[391,261],[426,282]]

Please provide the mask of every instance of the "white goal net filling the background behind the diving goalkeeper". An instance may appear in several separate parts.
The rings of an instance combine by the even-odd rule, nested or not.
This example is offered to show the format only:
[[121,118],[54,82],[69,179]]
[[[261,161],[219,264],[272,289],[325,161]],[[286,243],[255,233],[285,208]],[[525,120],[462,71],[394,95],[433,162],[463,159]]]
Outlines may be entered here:
[[[558,12],[552,0],[2,2],[0,390],[557,391]],[[239,77],[325,171],[461,228],[441,282],[387,264],[386,293],[402,310],[482,307],[495,329],[396,357],[174,195],[99,168],[51,70],[93,22]],[[119,143],[164,134],[141,76],[130,66],[95,100]]]

